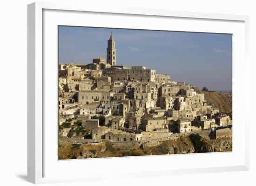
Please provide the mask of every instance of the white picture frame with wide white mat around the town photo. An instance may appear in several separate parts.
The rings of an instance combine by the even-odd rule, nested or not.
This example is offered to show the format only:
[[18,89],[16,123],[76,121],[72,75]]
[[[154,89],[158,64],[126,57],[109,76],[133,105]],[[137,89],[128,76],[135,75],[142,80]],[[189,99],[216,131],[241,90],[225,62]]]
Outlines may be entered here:
[[[45,12],[44,12],[45,11]],[[55,11],[55,12],[54,12]],[[57,12],[56,12],[57,11]],[[59,12],[58,12],[59,11]],[[64,12],[60,12],[64,11]],[[129,176],[158,176],[158,175],[175,175],[175,174],[187,174],[187,173],[206,173],[206,172],[223,172],[223,171],[239,171],[239,170],[249,170],[249,121],[246,117],[248,113],[245,111],[239,110],[238,106],[233,106],[234,113],[243,112],[245,115],[245,119],[240,118],[239,115],[234,115],[234,131],[233,131],[233,142],[234,148],[231,153],[208,153],[208,154],[189,154],[189,155],[162,155],[162,156],[143,156],[143,157],[128,157],[128,158],[104,158],[104,159],[91,159],[91,160],[62,160],[58,161],[56,157],[56,149],[54,150],[53,146],[49,146],[49,139],[53,140],[53,144],[56,143],[57,135],[57,122],[53,122],[52,126],[45,126],[45,122],[48,121],[49,117],[45,117],[47,115],[47,103],[54,103],[55,100],[51,100],[46,90],[49,90],[51,87],[56,86],[56,84],[49,85],[46,83],[50,79],[55,79],[54,73],[57,69],[57,61],[55,64],[49,64],[48,62],[51,59],[46,57],[49,53],[48,50],[55,51],[56,50],[56,35],[54,32],[53,35],[50,33],[51,26],[54,26],[56,29],[56,25],[60,23],[64,23],[64,25],[75,25],[75,26],[83,26],[81,25],[81,20],[77,20],[75,23],[72,23],[75,17],[83,16],[83,13],[89,13],[90,18],[99,20],[99,15],[101,16],[112,16],[113,19],[117,19],[117,16],[122,16],[123,19],[127,19],[127,24],[129,24],[128,20],[131,19],[131,16],[136,19],[179,19],[179,21],[185,21],[189,19],[190,21],[195,21],[195,24],[198,24],[198,29],[193,28],[190,32],[216,32],[213,29],[211,30],[210,25],[214,24],[222,24],[221,26],[217,26],[222,33],[232,33],[237,37],[233,39],[233,102],[236,102],[236,105],[244,103],[244,105],[249,108],[249,96],[246,94],[245,90],[240,90],[237,88],[236,84],[243,84],[243,86],[249,87],[249,61],[248,61],[248,47],[249,47],[249,17],[243,15],[225,15],[225,14],[214,14],[214,13],[191,13],[191,12],[175,12],[169,10],[148,10],[148,9],[136,9],[136,8],[101,8],[101,7],[90,7],[86,5],[77,5],[77,4],[52,4],[52,3],[32,3],[28,5],[28,181],[32,183],[51,183],[51,182],[62,182],[62,181],[77,181],[77,180],[104,180],[111,179],[107,175],[99,175],[94,173],[93,170],[96,170],[100,165],[108,166],[109,172],[116,173],[120,178],[129,175]],[[60,19],[65,18],[65,14],[68,14],[65,21],[57,20],[56,15],[60,15]],[[45,16],[45,19],[44,19]],[[88,15],[85,15],[88,16]],[[130,17],[129,17],[130,16]],[[51,19],[49,19],[51,18]],[[59,19],[59,18],[58,18]],[[102,17],[101,17],[102,19]],[[174,25],[175,25],[174,20]],[[60,22],[58,22],[60,21]],[[198,21],[198,23],[197,23]],[[200,21],[209,28],[200,28]],[[100,22],[100,20],[99,20]],[[116,23],[115,23],[116,22]],[[146,21],[147,22],[147,21]],[[161,21],[160,21],[161,22]],[[208,23],[210,22],[210,24]],[[137,24],[136,24],[137,23]],[[137,28],[136,25],[139,25],[142,22],[134,21],[134,26],[128,26],[129,28]],[[230,23],[230,27],[225,30],[225,25]],[[49,25],[47,25],[49,24]],[[113,21],[113,23],[108,23],[108,26],[115,27],[115,24],[118,25],[118,21]],[[111,25],[113,24],[113,25]],[[120,23],[121,24],[121,23]],[[161,23],[159,23],[161,26]],[[209,24],[209,25],[208,25]],[[232,24],[234,27],[232,27]],[[97,26],[95,23],[91,23],[89,26]],[[105,27],[103,23],[101,23],[102,27]],[[99,25],[98,25],[99,26]],[[160,27],[158,26],[158,28]],[[191,25],[190,25],[191,26]],[[119,26],[122,28],[123,26]],[[146,28],[146,25],[145,25]],[[148,26],[148,29],[152,29],[152,27]],[[165,29],[165,28],[163,28]],[[168,30],[168,28],[166,28]],[[190,27],[192,29],[192,27]],[[229,30],[228,30],[229,29]],[[234,29],[232,31],[232,29]],[[175,31],[187,31],[189,32],[189,24],[183,25],[176,29]],[[222,31],[221,31],[222,30]],[[244,35],[243,35],[244,34]],[[44,40],[43,39],[46,39]],[[51,38],[51,42],[54,42],[51,48],[48,43]],[[236,45],[241,43],[240,46]],[[45,45],[49,47],[45,47]],[[54,48],[55,47],[55,48]],[[237,48],[238,47],[238,48]],[[240,47],[240,48],[239,48]],[[234,53],[236,52],[236,53]],[[46,55],[46,56],[45,56]],[[51,55],[48,55],[51,56]],[[46,61],[44,61],[46,60]],[[45,63],[44,63],[45,62]],[[242,64],[243,63],[243,64]],[[53,65],[53,66],[52,66]],[[55,65],[55,67],[54,67]],[[47,74],[47,76],[46,76]],[[235,75],[234,75],[235,74]],[[237,77],[236,75],[240,74],[241,77]],[[56,80],[57,83],[57,80]],[[235,86],[234,86],[235,85]],[[54,91],[53,91],[54,92]],[[56,94],[57,95],[57,94]],[[55,95],[55,96],[56,96]],[[238,99],[238,96],[242,95],[242,99]],[[48,99],[48,100],[47,100]],[[54,102],[52,102],[54,101]],[[56,102],[57,104],[57,102]],[[234,105],[234,104],[233,104]],[[54,107],[53,107],[54,108]],[[57,108],[57,107],[56,107]],[[54,109],[56,109],[54,108]],[[50,108],[49,108],[50,109]],[[56,110],[52,110],[53,113]],[[54,117],[54,116],[53,116]],[[56,118],[52,121],[57,121]],[[48,119],[47,119],[48,118]],[[237,121],[237,122],[236,122]],[[243,128],[239,131],[236,130],[236,123],[243,122]],[[48,123],[48,122],[47,122]],[[54,124],[56,124],[54,126]],[[53,127],[53,128],[52,128]],[[55,129],[54,129],[55,127]],[[47,139],[44,135],[47,133]],[[241,134],[239,134],[241,133]],[[239,135],[238,135],[239,134]],[[54,139],[52,139],[54,138]],[[237,146],[236,146],[237,145]],[[240,149],[238,149],[240,148]],[[53,153],[49,151],[49,149],[53,149]],[[234,155],[235,154],[235,155]],[[237,156],[236,156],[237,154]],[[173,167],[169,167],[168,163],[162,165],[159,161],[167,162],[168,160],[178,161],[180,157],[187,157],[189,160],[205,160],[206,156],[211,158],[226,158],[225,161],[216,164],[210,165],[210,162],[205,163],[204,166],[200,165],[195,167],[195,165],[181,165],[180,168],[178,164],[173,164]],[[234,156],[234,157],[233,157]],[[53,158],[52,158],[53,157]],[[151,167],[146,166],[146,162],[150,160]],[[228,161],[229,160],[229,161]],[[54,161],[54,162],[53,162]],[[236,161],[236,163],[235,163]],[[129,167],[132,162],[141,163],[146,167],[141,170],[133,171],[133,167]],[[154,163],[155,162],[155,163]],[[158,162],[158,163],[157,163]],[[188,161],[189,162],[189,161]],[[63,166],[73,166],[79,167],[82,165],[86,165],[90,167],[90,172],[86,172],[84,174],[69,174],[61,176],[61,169]],[[161,164],[161,165],[160,165]],[[55,166],[55,167],[54,167]],[[118,171],[114,170],[117,167],[127,167],[127,170],[119,169]],[[153,168],[154,169],[153,169]],[[121,167],[120,167],[121,168]],[[60,173],[60,174],[58,174]]]

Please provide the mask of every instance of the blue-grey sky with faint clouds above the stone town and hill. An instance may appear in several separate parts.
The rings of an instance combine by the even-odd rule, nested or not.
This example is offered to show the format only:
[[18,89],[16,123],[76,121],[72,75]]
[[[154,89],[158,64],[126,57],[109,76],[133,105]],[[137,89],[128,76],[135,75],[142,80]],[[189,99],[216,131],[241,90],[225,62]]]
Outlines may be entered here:
[[59,26],[59,63],[106,58],[112,31],[116,63],[146,66],[200,89],[232,90],[232,35]]

